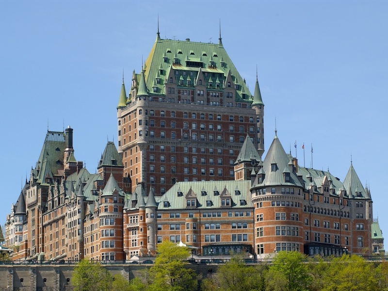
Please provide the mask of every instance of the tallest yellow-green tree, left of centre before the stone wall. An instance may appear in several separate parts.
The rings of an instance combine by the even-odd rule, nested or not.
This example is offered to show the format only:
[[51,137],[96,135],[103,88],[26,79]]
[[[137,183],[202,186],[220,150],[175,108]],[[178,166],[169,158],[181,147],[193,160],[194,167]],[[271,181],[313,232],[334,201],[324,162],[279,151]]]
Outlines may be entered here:
[[194,270],[186,268],[186,259],[190,255],[187,247],[177,246],[164,241],[158,244],[158,256],[155,265],[149,270],[152,283],[150,291],[191,291],[197,289]]

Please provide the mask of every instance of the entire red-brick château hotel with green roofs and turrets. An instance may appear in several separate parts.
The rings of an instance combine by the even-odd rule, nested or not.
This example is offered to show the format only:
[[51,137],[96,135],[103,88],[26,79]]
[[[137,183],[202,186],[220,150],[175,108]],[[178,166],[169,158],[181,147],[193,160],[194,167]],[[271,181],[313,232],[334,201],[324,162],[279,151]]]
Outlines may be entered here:
[[263,116],[258,80],[251,95],[221,35],[204,44],[158,32],[128,96],[123,80],[118,147],[108,142],[90,174],[73,129],[48,131],[4,244],[26,260],[130,260],[163,240],[211,257],[383,250],[352,162],[342,182],[300,167],[276,132],[262,159]]

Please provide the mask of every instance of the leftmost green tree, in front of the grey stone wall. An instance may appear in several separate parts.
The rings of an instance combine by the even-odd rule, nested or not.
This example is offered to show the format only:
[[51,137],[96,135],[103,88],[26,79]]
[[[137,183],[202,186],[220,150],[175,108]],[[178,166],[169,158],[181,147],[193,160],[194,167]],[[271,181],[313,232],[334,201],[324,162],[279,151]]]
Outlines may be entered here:
[[71,284],[74,291],[108,291],[112,286],[112,276],[100,263],[82,259],[73,270]]

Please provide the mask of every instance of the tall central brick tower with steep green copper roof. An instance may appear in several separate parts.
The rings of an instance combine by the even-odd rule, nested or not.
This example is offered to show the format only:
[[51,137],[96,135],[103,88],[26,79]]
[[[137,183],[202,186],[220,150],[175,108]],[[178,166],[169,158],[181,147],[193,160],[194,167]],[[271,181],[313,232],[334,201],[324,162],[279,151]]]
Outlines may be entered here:
[[[124,81],[117,106],[118,151],[132,191],[164,194],[177,181],[233,180],[247,133],[264,152],[264,104],[252,96],[222,44],[161,39],[140,74]],[[152,185],[152,186],[151,186]]]

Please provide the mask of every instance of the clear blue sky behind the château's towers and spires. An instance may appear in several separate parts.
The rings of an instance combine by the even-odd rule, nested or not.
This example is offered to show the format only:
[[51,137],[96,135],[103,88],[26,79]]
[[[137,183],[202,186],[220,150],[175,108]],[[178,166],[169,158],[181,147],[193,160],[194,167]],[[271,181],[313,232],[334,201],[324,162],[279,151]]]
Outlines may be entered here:
[[[140,71],[162,38],[223,44],[254,90],[258,67],[265,146],[297,143],[303,165],[342,181],[351,154],[388,235],[387,1],[0,1],[0,223],[37,162],[49,125],[74,129],[77,160],[96,171],[116,142],[124,69]],[[265,153],[264,153],[265,154]],[[388,238],[388,236],[387,236]]]

